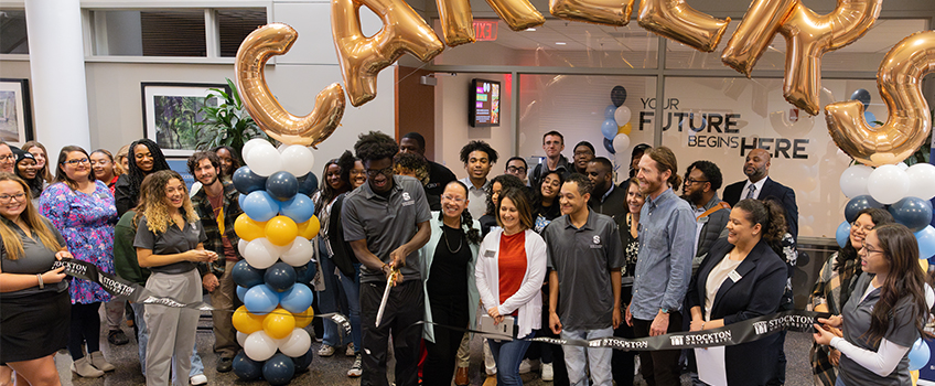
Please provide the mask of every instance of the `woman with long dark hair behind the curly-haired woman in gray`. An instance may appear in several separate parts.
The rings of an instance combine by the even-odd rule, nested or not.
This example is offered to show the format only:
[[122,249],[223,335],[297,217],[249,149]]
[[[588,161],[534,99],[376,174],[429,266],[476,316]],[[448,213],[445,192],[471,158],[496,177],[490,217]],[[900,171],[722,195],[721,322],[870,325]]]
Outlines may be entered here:
[[114,187],[114,199],[117,201],[117,215],[122,216],[130,208],[137,206],[140,195],[140,183],[143,179],[154,172],[169,170],[169,162],[162,149],[151,139],[140,139],[130,144],[128,154],[129,170],[127,174],[117,179]]

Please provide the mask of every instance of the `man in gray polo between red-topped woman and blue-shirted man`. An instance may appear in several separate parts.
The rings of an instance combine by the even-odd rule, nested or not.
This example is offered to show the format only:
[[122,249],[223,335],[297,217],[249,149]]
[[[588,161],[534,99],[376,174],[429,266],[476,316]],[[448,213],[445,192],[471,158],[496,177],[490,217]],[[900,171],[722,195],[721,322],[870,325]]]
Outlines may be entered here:
[[[591,181],[572,174],[561,185],[561,217],[542,232],[549,257],[549,326],[562,339],[600,339],[620,325],[620,268],[623,247],[616,224],[588,208]],[[561,302],[559,302],[561,296]],[[561,304],[561,315],[556,307]],[[611,386],[611,349],[565,346],[571,385]],[[588,356],[585,358],[585,355]]]

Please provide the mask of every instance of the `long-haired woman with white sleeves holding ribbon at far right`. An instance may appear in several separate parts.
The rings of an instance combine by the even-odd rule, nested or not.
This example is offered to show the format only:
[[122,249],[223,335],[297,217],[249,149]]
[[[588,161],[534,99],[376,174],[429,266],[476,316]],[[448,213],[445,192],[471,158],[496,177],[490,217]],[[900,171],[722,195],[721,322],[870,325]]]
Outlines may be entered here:
[[906,354],[928,318],[918,244],[904,225],[878,225],[858,256],[863,272],[840,315],[818,319],[815,342],[842,354],[836,385],[911,385]]

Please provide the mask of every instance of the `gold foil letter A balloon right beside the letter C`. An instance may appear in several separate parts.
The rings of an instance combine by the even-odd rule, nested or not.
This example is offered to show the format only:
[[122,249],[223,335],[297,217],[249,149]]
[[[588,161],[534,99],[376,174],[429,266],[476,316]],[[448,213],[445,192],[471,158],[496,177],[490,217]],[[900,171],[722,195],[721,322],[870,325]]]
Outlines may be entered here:
[[[372,37],[361,31],[361,6],[383,20],[383,29]],[[332,0],[331,32],[354,106],[376,97],[377,74],[405,52],[428,62],[444,50],[434,31],[401,0]]]

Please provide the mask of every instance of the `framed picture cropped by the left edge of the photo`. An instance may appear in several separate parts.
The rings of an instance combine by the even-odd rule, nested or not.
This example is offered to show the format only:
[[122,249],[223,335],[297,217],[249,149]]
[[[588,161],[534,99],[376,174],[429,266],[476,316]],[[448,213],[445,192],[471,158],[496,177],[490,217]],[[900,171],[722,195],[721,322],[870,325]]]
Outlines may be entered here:
[[0,140],[17,146],[33,140],[29,79],[0,78]]

